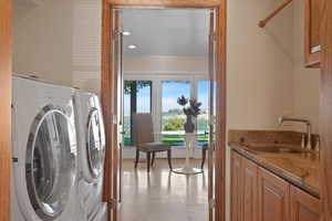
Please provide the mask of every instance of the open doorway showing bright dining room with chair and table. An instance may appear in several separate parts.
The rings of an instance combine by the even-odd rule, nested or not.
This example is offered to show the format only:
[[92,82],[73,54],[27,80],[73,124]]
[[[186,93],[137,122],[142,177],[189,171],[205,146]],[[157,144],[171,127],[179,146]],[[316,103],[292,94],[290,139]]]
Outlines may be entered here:
[[114,14],[122,134],[118,218],[208,221],[214,198],[215,10],[117,9]]

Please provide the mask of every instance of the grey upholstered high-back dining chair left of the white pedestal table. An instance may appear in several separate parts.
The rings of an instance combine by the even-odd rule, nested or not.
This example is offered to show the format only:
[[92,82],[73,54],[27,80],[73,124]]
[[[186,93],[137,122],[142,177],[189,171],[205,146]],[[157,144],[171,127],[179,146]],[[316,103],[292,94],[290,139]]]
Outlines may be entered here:
[[[133,115],[134,144],[136,146],[135,168],[139,160],[141,151],[146,152],[147,172],[151,166],[154,165],[156,152],[167,151],[168,166],[172,170],[172,148],[170,145],[155,140],[153,117],[151,114],[134,114]],[[151,158],[153,157],[153,158]],[[152,161],[151,161],[152,159]]]

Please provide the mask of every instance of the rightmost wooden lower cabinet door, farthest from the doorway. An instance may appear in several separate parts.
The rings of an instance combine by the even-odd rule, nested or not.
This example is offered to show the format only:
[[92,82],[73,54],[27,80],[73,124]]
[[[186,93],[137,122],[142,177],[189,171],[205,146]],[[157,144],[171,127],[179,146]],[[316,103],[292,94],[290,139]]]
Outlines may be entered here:
[[319,199],[291,187],[291,221],[320,221],[321,202]]

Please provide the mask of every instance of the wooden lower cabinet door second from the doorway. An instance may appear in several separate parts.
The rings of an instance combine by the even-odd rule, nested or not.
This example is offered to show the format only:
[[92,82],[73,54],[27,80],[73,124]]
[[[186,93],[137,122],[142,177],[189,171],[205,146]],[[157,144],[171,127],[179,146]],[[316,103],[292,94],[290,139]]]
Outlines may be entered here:
[[242,158],[242,221],[257,221],[257,170],[255,162]]

